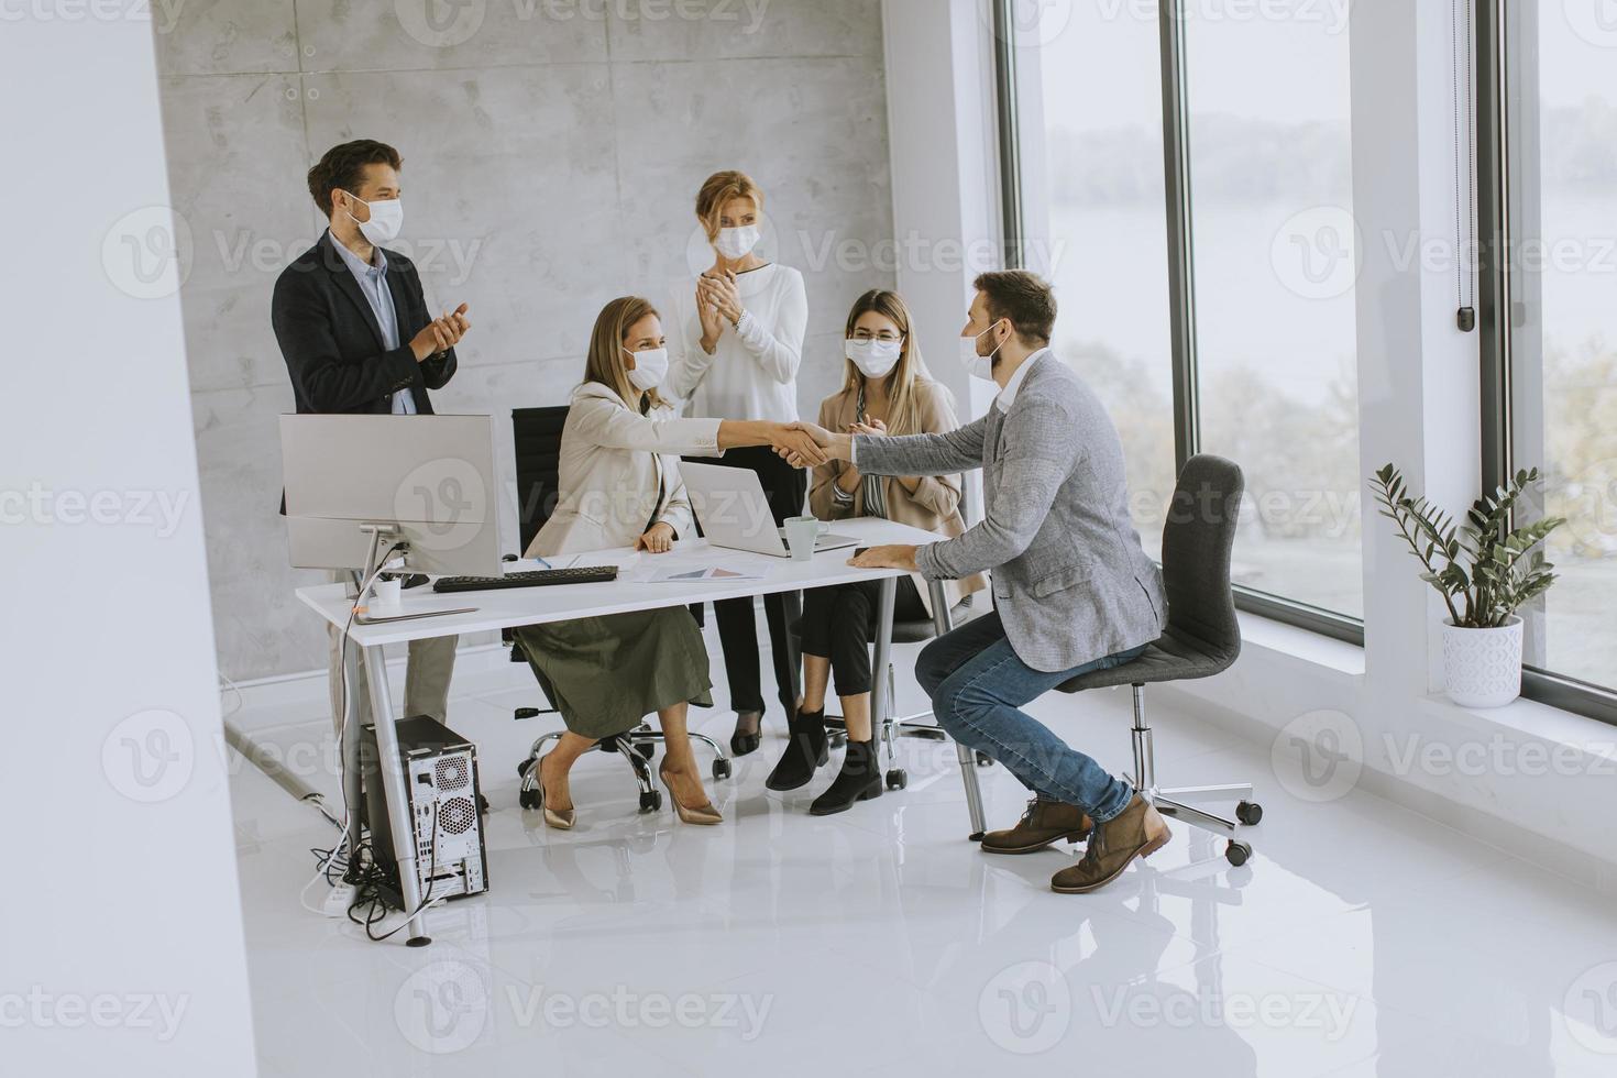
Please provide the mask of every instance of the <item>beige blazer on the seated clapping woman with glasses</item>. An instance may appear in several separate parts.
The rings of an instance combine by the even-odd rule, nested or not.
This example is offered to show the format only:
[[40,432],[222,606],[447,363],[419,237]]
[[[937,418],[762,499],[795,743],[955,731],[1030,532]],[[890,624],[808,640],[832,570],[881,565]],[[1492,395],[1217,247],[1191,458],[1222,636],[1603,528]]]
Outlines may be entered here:
[[[949,406],[948,391],[936,381],[922,381],[915,386],[917,420],[920,430],[915,433],[941,435],[959,427],[954,419],[954,407]],[[826,430],[842,432],[859,419],[859,390],[841,390],[820,402],[820,425]],[[813,483],[808,488],[808,511],[821,520],[865,516],[863,485],[854,490],[854,504],[841,507],[836,504],[834,483],[844,470],[854,467],[846,461],[830,461],[813,470]],[[959,475],[927,475],[920,480],[915,493],[904,490],[897,478],[883,480],[888,498],[888,519],[894,524],[941,532],[951,538],[965,533],[965,520],[960,517],[960,477]],[[931,588],[927,579],[912,572],[920,601],[931,614]],[[972,574],[960,580],[944,580],[944,592],[949,595],[949,606],[954,608],[972,592],[982,592],[988,582],[982,574]]]

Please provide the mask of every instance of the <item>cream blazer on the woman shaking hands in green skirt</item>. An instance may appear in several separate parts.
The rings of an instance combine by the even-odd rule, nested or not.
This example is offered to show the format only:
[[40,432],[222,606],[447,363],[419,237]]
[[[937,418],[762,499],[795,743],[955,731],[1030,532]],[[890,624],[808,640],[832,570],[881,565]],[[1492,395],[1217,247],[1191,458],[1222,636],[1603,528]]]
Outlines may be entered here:
[[556,511],[527,556],[634,546],[652,524],[695,537],[679,457],[723,456],[720,422],[679,419],[666,406],[640,415],[613,390],[581,385],[561,428]]

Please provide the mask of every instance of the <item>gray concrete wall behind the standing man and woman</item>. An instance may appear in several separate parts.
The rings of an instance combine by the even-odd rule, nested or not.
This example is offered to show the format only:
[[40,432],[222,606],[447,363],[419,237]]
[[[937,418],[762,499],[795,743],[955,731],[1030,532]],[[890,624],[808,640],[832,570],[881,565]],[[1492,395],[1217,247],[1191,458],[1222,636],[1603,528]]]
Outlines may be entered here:
[[[325,218],[304,176],[372,137],[404,157],[399,242],[429,304],[471,304],[440,412],[566,404],[602,305],[689,301],[695,192],[718,168],[763,186],[765,257],[804,272],[799,407],[842,370],[842,322],[891,288],[878,0],[157,5],[173,205],[192,238],[183,304],[220,666],[234,680],[323,666],[293,601],[277,417],[293,391],[270,293]],[[451,18],[453,16],[453,18]],[[705,255],[703,255],[705,252]],[[951,315],[952,320],[952,315]],[[516,482],[501,503],[517,548]],[[466,645],[467,642],[462,642]]]

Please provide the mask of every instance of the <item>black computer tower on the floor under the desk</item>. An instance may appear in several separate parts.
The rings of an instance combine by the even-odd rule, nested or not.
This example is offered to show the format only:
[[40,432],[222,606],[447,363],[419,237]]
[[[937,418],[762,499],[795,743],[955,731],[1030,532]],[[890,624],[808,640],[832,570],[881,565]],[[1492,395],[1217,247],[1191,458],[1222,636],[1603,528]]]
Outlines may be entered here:
[[[422,897],[464,899],[488,891],[488,852],[477,811],[477,747],[427,716],[401,719],[396,729]],[[377,866],[398,881],[380,761],[377,727],[365,726],[361,771],[370,849]],[[385,897],[395,908],[403,908],[398,891]]]

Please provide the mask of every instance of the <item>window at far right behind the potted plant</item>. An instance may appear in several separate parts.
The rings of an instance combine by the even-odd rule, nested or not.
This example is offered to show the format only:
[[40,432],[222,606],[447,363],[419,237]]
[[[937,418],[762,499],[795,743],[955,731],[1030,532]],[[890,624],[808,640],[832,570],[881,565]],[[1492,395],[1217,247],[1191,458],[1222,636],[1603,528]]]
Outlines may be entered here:
[[[1483,5],[1484,482],[1544,475],[1560,580],[1526,619],[1528,692],[1617,718],[1617,23]],[[1492,171],[1489,173],[1489,163]],[[1489,309],[1491,307],[1491,309]]]

